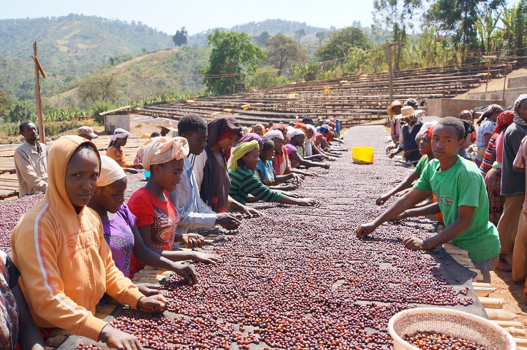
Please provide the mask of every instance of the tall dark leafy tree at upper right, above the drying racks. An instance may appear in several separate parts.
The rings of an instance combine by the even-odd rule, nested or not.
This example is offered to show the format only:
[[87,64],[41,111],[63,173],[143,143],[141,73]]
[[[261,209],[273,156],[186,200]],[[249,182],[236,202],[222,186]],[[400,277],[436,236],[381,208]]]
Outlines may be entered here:
[[505,0],[437,0],[426,13],[428,21],[452,35],[454,47],[460,50],[461,63],[465,53],[477,48],[477,23],[485,11],[503,6]]

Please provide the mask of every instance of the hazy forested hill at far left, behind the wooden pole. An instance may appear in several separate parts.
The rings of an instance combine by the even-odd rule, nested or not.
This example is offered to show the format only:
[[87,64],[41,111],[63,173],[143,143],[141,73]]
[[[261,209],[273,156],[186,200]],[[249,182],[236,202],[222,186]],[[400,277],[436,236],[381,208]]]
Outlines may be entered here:
[[0,89],[10,98],[34,96],[34,41],[48,75],[42,84],[44,95],[64,91],[112,56],[136,56],[173,46],[170,35],[141,22],[75,14],[0,20]]

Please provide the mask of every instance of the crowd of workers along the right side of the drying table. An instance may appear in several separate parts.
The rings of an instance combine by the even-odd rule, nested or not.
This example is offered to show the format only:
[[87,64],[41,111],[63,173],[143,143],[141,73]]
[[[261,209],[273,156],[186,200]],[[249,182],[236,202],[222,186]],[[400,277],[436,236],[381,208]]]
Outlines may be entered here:
[[[458,118],[424,122],[415,99],[387,108],[393,145],[389,158],[404,151],[413,172],[382,193],[377,205],[400,197],[377,219],[361,225],[365,237],[387,220],[435,215],[445,225],[429,239],[408,237],[410,249],[431,249],[452,241],[466,249],[484,282],[494,268],[525,283],[527,301],[527,95],[509,109],[491,104],[479,115],[463,110]],[[471,155],[472,154],[472,155]],[[512,264],[506,260],[512,252]]]

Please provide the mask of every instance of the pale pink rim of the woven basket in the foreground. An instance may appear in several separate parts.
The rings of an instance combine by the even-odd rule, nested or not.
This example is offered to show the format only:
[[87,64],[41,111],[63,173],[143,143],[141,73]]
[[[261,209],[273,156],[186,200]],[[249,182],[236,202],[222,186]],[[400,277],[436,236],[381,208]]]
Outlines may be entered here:
[[465,318],[470,318],[472,320],[475,320],[477,322],[481,322],[486,326],[489,326],[490,328],[494,329],[497,333],[500,333],[502,336],[504,336],[507,341],[510,344],[510,350],[516,350],[516,342],[514,341],[514,338],[512,335],[510,335],[508,332],[506,332],[503,327],[500,327],[496,325],[495,323],[491,322],[490,320],[473,315],[464,311],[454,310],[454,309],[447,309],[447,308],[437,308],[437,307],[418,307],[414,309],[408,309],[398,312],[397,314],[393,315],[389,321],[388,321],[388,333],[389,335],[394,339],[397,339],[397,341],[403,342],[405,345],[408,345],[408,349],[419,349],[418,347],[413,346],[410,343],[407,343],[403,338],[401,338],[394,330],[394,324],[399,320],[400,318],[406,316],[406,315],[413,315],[413,314],[444,314],[444,315],[452,315],[452,316],[462,316]]

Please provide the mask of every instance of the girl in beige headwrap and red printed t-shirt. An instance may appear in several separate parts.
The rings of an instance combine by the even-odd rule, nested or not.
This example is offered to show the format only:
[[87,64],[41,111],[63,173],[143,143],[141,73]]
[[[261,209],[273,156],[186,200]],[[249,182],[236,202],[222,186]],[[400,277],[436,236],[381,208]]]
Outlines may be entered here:
[[[133,193],[128,207],[136,217],[135,225],[144,244],[163,257],[168,257],[174,242],[183,242],[189,248],[201,247],[204,242],[203,237],[196,234],[175,235],[179,213],[168,194],[178,186],[183,161],[188,154],[187,139],[181,137],[153,138],[139,148],[143,167],[150,171],[150,178],[144,187]],[[143,267],[144,264],[132,255],[130,273],[134,274]]]

